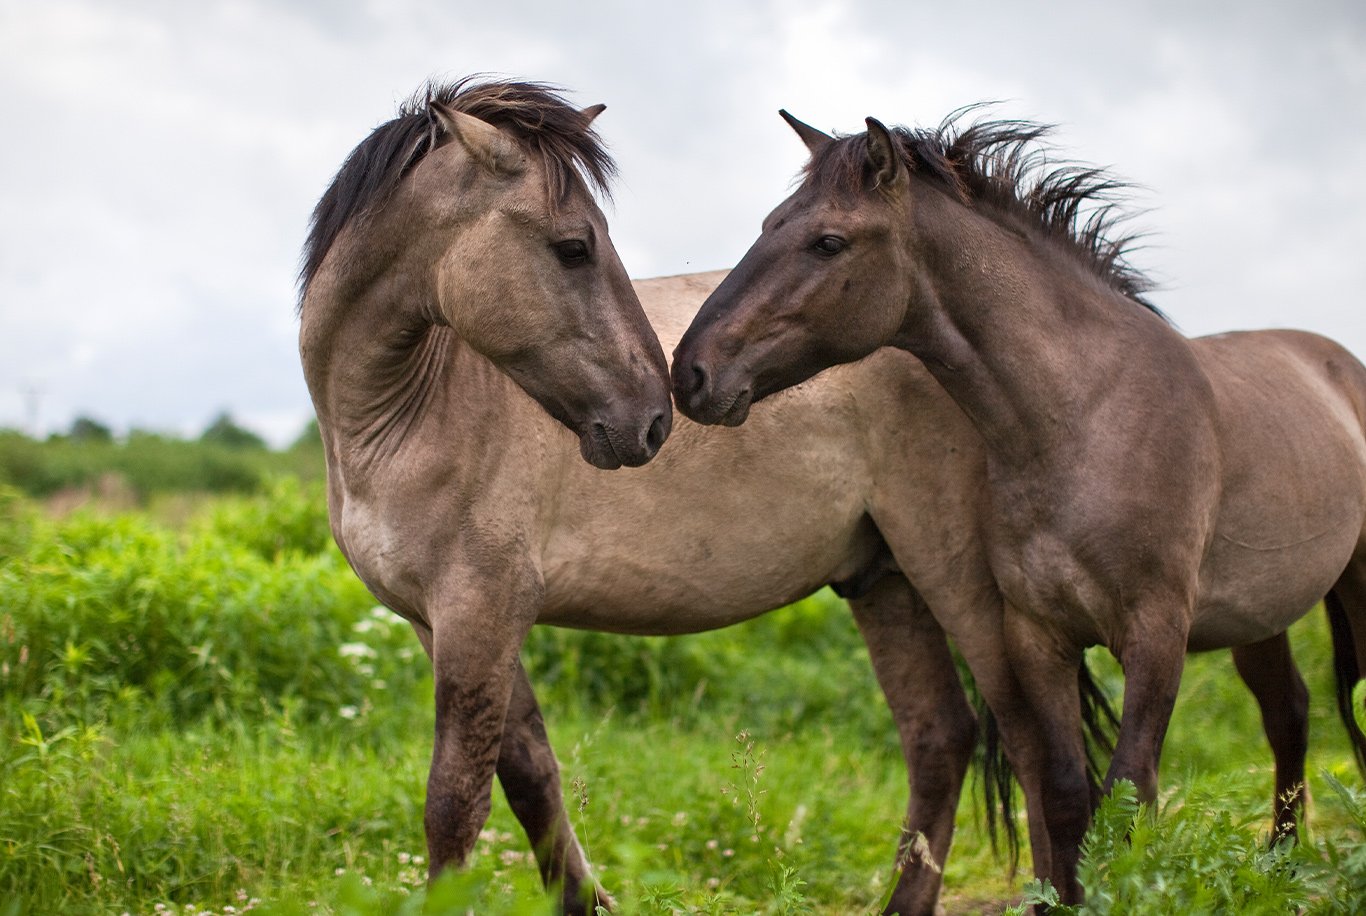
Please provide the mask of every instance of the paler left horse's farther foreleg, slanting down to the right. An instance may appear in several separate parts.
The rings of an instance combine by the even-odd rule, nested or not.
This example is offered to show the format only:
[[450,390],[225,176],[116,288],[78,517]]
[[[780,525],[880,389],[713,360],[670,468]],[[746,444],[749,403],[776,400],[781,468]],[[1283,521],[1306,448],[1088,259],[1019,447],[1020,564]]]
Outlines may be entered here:
[[574,916],[591,913],[596,906],[611,909],[612,900],[593,882],[587,857],[570,826],[560,789],[560,767],[520,662],[503,726],[497,774],[508,807],[535,850],[541,879],[546,887],[560,889],[564,912]]

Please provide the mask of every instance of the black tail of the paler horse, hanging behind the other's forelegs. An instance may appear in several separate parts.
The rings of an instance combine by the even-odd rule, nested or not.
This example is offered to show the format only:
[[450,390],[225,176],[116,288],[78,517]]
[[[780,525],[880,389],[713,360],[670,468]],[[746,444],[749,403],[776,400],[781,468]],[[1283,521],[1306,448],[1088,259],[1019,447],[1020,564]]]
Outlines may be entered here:
[[[1076,669],[1076,689],[1082,699],[1082,725],[1086,732],[1086,771],[1091,781],[1091,796],[1100,797],[1100,786],[1105,769],[1115,752],[1115,736],[1119,733],[1119,714],[1109,695],[1091,676],[1091,669],[1082,659]],[[986,808],[986,834],[992,841],[992,852],[999,853],[997,823],[1005,831],[1005,848],[1009,856],[1011,872],[1019,867],[1019,831],[1015,827],[1015,773],[1005,749],[1001,747],[1000,729],[996,717],[973,691],[978,721],[982,724],[982,747],[977,759],[982,770],[982,796]]]

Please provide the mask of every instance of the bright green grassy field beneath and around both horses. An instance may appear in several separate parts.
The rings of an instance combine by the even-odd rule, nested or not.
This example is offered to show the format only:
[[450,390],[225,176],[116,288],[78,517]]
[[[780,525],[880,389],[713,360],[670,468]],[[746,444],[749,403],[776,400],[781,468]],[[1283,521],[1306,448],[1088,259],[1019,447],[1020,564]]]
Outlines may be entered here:
[[[1160,811],[1106,804],[1085,912],[1361,912],[1366,793],[1321,614],[1292,636],[1307,841],[1268,848],[1255,707],[1225,653],[1194,658]],[[523,657],[623,912],[876,912],[907,790],[841,602],[691,638],[538,629]],[[471,868],[425,889],[426,659],[331,545],[317,483],[60,517],[0,491],[0,916],[550,912],[497,792]],[[977,795],[951,913],[1038,893]]]

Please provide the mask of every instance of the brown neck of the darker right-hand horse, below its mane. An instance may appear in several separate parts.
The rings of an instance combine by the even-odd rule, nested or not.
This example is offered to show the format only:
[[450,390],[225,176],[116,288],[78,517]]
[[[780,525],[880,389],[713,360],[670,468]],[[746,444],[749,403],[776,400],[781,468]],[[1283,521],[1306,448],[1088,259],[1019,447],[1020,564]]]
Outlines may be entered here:
[[[973,419],[997,459],[1026,464],[1075,440],[1135,351],[1184,344],[1075,253],[919,187],[911,304],[897,344]],[[1142,358],[1139,358],[1141,360]]]

